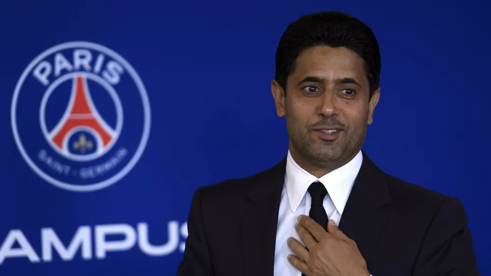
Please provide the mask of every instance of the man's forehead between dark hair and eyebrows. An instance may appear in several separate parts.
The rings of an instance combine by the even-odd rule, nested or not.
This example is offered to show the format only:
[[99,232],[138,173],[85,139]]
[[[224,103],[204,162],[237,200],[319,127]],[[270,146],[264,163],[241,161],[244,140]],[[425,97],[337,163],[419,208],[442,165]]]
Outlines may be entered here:
[[[354,78],[360,84],[367,84],[363,59],[346,48],[316,46],[302,51],[296,60],[295,72],[291,79],[318,76],[326,80]],[[290,79],[290,78],[289,78]]]

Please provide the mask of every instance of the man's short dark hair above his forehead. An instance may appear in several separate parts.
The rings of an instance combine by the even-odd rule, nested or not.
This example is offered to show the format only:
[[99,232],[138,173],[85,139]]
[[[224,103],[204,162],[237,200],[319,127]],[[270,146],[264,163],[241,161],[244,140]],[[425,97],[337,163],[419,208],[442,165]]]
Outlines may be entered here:
[[364,60],[371,98],[380,83],[379,43],[371,28],[342,12],[324,11],[304,15],[288,25],[276,50],[274,80],[286,90],[288,76],[295,71],[300,52],[321,45],[345,47]]

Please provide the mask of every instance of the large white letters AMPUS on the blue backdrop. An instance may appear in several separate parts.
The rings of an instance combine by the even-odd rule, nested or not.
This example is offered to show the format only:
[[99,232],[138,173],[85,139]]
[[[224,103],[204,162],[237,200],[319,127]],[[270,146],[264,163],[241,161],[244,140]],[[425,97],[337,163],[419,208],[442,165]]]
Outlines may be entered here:
[[[83,225],[77,228],[71,241],[61,241],[53,228],[41,228],[40,232],[41,244],[37,246],[40,247],[42,259],[24,233],[20,229],[12,229],[0,244],[0,265],[7,258],[26,258],[31,263],[54,262],[54,255],[58,255],[63,261],[72,261],[79,251],[83,260],[91,260],[93,256],[96,259],[105,259],[109,252],[128,251],[134,248],[136,243],[140,252],[145,255],[165,256],[176,250],[184,252],[184,241],[188,237],[187,222],[179,225],[178,221],[167,222],[166,240],[160,245],[150,242],[149,226],[145,222],[138,223],[136,227],[130,224],[104,224],[93,227]],[[159,235],[158,233],[165,231],[152,231],[154,237]],[[114,240],[110,237],[113,235],[122,238]]]

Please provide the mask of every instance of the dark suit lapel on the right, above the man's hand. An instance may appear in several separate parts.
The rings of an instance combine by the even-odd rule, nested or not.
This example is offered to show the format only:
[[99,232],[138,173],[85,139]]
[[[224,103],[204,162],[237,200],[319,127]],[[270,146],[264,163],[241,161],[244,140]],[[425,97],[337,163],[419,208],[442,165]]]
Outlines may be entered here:
[[356,242],[367,263],[385,225],[377,208],[390,202],[385,173],[363,152],[363,163],[346,202],[339,229]]

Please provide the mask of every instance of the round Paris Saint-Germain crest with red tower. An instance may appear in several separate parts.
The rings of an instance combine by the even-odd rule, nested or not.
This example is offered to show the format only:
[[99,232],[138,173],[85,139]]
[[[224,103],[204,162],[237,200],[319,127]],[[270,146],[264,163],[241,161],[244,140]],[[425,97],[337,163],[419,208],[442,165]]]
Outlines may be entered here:
[[98,44],[68,42],[27,66],[15,87],[11,124],[37,175],[89,192],[116,183],[136,165],[150,134],[150,105],[123,57]]

